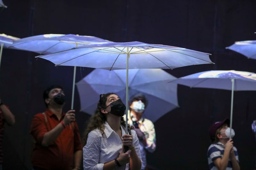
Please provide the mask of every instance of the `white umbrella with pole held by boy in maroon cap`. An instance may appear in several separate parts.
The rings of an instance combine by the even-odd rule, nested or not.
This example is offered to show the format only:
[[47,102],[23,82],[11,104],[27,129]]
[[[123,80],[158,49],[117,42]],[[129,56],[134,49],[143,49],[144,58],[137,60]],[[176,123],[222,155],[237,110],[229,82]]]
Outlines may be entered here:
[[184,76],[170,82],[189,87],[231,90],[230,129],[232,128],[234,91],[256,90],[256,74],[247,71],[210,70]]

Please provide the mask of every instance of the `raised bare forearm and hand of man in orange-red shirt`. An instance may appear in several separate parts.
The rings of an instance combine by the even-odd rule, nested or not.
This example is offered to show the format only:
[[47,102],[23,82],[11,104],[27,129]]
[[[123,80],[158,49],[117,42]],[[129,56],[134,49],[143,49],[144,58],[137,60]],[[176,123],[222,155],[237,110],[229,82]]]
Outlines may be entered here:
[[[66,127],[68,124],[70,124],[74,120],[75,120],[74,110],[69,110],[65,114],[65,117],[63,118],[62,122],[63,122],[64,126]],[[42,146],[49,146],[57,139],[57,137],[60,135],[62,130],[65,129],[62,122],[60,122],[52,130],[50,130],[44,134],[44,137],[43,137],[43,140],[41,143]]]

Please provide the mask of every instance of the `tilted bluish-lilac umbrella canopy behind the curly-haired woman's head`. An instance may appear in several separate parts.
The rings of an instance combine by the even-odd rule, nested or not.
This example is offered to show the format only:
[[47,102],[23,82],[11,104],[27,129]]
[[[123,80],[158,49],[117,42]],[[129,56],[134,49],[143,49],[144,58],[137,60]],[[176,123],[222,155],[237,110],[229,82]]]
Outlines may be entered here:
[[[126,102],[126,70],[94,69],[76,83],[80,97],[81,110],[94,114],[100,94],[114,92]],[[148,107],[143,117],[156,122],[164,114],[178,107],[177,84],[169,84],[177,79],[162,69],[129,70],[129,96],[143,93],[148,99]],[[104,81],[102,81],[104,80]]]

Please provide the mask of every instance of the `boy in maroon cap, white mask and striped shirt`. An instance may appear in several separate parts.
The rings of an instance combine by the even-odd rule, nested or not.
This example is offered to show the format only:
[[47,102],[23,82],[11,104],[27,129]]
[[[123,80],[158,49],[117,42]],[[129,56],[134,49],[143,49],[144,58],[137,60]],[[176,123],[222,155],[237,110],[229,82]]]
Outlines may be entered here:
[[207,152],[210,170],[240,170],[237,149],[233,146],[232,140],[235,131],[230,130],[229,123],[230,120],[226,118],[221,122],[215,122],[209,129],[212,141]]

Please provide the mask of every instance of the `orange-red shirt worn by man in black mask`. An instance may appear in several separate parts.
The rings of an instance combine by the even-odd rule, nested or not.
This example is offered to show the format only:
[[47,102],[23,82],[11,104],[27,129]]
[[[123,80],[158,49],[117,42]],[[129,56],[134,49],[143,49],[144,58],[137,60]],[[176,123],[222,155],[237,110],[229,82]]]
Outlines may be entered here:
[[32,164],[45,169],[70,170],[73,168],[74,152],[82,150],[81,137],[76,122],[66,126],[59,137],[48,147],[42,146],[44,134],[63,120],[65,113],[58,120],[57,116],[47,109],[45,112],[47,122],[42,113],[36,114],[31,123],[30,134],[36,140],[35,148],[32,152]]

